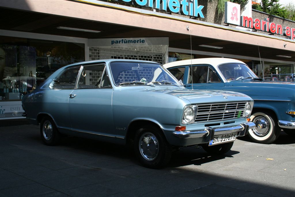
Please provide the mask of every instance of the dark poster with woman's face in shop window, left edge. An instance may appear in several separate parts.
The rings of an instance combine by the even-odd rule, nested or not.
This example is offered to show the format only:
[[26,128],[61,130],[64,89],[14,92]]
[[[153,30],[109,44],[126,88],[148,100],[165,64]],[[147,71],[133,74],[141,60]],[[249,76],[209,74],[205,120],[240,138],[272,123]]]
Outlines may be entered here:
[[9,80],[17,72],[17,46],[0,45],[0,82]]

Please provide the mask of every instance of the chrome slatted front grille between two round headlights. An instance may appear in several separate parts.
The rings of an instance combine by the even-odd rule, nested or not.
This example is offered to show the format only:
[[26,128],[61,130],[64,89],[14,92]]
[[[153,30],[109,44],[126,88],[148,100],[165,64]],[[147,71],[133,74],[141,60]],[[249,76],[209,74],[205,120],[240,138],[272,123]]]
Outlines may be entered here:
[[228,102],[198,105],[195,123],[222,121],[243,117],[247,102]]

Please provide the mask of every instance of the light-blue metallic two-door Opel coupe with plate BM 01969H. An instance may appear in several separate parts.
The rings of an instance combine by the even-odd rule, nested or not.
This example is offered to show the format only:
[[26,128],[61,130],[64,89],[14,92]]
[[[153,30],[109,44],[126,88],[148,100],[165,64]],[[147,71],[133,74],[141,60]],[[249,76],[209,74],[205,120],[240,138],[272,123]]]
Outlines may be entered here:
[[247,95],[188,90],[162,65],[148,61],[65,66],[25,95],[22,105],[24,116],[40,124],[47,145],[55,145],[60,134],[131,143],[151,168],[165,165],[180,146],[200,144],[223,154],[236,136],[255,126]]

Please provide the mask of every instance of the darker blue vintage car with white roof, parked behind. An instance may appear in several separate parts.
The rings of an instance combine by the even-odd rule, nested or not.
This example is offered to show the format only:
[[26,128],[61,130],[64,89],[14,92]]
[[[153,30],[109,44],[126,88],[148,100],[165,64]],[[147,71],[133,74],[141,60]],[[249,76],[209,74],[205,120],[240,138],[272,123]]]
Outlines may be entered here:
[[200,58],[164,65],[188,89],[241,92],[254,100],[250,138],[271,144],[283,129],[295,135],[295,83],[270,82],[258,78],[242,61],[229,58]]

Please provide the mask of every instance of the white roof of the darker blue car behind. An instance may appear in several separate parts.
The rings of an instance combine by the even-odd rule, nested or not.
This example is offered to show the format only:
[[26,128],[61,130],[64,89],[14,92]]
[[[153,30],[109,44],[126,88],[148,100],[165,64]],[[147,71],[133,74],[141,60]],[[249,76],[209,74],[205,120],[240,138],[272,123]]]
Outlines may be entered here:
[[184,66],[184,65],[196,65],[196,64],[210,64],[214,67],[217,67],[219,64],[224,63],[240,63],[245,64],[242,61],[231,59],[231,58],[199,58],[199,59],[189,59],[189,60],[181,60],[181,61],[174,61],[168,64],[164,64],[165,68],[171,68],[174,66]]

